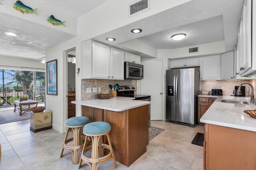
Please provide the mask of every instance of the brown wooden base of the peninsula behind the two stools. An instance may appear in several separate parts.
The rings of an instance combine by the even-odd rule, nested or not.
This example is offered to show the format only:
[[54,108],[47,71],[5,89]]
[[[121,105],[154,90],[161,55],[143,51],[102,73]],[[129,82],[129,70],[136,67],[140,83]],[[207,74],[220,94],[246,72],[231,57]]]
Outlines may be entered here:
[[[146,152],[148,111],[148,105],[125,111],[110,111],[82,106],[82,116],[89,117],[91,122],[105,121],[110,123],[109,135],[114,156],[118,162],[125,166],[130,166]],[[105,139],[104,143],[106,143]]]

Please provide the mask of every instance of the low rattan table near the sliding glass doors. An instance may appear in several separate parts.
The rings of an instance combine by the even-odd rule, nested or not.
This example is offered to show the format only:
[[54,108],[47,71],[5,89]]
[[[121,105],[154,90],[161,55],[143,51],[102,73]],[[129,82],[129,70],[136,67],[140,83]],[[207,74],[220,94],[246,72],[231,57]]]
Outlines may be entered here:
[[38,102],[34,100],[14,100],[14,111],[18,110],[20,116],[37,107]]

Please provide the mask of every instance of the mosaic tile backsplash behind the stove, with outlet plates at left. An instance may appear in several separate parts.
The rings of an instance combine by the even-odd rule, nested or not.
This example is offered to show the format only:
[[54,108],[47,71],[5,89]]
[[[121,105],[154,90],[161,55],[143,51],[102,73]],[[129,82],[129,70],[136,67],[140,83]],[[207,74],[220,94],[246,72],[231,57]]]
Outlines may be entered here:
[[[111,90],[109,85],[114,86],[134,86],[135,94],[137,93],[137,80],[102,80],[102,79],[82,79],[81,80],[81,100],[97,98],[96,94],[110,94]],[[86,88],[101,87],[101,92],[87,93]]]

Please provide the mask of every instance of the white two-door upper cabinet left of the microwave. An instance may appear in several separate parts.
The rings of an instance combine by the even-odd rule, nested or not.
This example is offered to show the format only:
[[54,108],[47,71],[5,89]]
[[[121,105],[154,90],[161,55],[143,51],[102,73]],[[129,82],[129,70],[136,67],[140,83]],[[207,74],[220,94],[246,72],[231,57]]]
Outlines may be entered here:
[[82,42],[81,78],[124,80],[124,50],[96,41]]

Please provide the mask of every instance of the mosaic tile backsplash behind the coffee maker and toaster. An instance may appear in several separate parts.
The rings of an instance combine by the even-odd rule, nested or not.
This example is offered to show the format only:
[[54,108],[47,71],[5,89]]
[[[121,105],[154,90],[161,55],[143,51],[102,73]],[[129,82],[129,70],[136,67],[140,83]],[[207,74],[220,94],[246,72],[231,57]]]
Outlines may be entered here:
[[[212,89],[221,89],[224,87],[223,95],[233,95],[234,86],[239,86],[241,83],[249,82],[254,87],[254,94],[256,94],[256,79],[253,80],[205,80],[202,81],[202,90],[211,91]],[[251,88],[248,84],[245,86],[245,96],[251,94]]]

